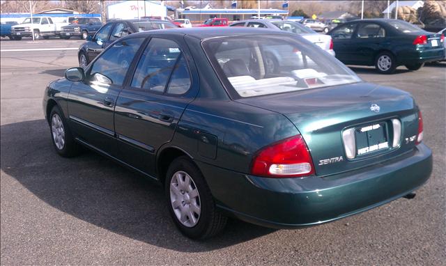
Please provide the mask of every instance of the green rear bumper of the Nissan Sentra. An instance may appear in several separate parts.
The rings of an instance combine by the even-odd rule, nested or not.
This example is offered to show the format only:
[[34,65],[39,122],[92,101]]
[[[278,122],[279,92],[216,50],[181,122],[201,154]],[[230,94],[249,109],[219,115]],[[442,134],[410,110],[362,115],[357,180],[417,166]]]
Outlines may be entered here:
[[197,162],[217,205],[272,228],[313,226],[400,198],[424,184],[432,170],[424,144],[385,164],[324,178],[260,178]]

